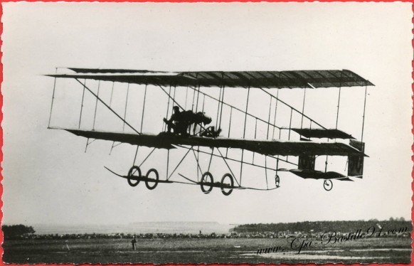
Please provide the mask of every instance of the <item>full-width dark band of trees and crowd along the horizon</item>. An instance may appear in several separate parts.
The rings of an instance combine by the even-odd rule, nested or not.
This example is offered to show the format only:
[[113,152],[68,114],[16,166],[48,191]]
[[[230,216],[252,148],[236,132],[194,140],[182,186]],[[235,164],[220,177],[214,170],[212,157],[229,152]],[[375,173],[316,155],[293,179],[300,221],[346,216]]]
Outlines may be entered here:
[[[413,230],[411,221],[403,219],[390,220],[344,220],[344,221],[320,221],[297,223],[253,223],[237,225],[226,234],[208,233],[78,233],[78,234],[35,234],[33,227],[26,225],[2,225],[4,240],[20,239],[95,239],[95,238],[286,238],[290,235],[302,235],[303,237],[318,237],[319,235],[334,231],[339,234],[355,233],[356,230],[366,232],[368,228],[375,228],[376,232],[382,232],[381,237],[410,237]],[[382,228],[382,230],[381,230]],[[384,234],[391,230],[388,235]],[[371,229],[372,232],[372,229]]]

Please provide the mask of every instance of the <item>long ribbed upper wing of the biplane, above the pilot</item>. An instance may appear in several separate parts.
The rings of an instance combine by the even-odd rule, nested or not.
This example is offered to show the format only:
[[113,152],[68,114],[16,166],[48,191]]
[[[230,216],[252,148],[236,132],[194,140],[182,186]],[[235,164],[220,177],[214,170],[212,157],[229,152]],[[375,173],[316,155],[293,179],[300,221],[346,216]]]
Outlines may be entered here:
[[350,70],[291,71],[192,71],[165,72],[126,69],[69,68],[75,73],[48,75],[55,78],[106,80],[160,86],[318,88],[371,86]]

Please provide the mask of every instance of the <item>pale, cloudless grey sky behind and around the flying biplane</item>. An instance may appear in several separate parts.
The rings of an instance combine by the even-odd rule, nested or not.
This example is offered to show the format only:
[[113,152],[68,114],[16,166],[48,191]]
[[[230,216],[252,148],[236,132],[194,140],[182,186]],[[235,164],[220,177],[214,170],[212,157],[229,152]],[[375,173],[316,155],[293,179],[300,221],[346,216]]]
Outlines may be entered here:
[[[410,219],[410,3],[2,5],[3,223]],[[159,184],[154,191],[142,183],[132,188],[103,166],[126,174],[134,159],[134,147],[122,144],[110,156],[111,143],[97,141],[85,153],[86,139],[47,128],[53,78],[44,74],[55,73],[60,67],[352,70],[376,85],[368,87],[366,100],[363,141],[369,157],[365,159],[363,179],[334,181],[334,188],[327,192],[322,181],[283,173],[281,187],[276,190],[233,191],[228,197],[217,188],[204,195],[197,186],[179,184]],[[90,83],[95,89],[96,85]],[[109,97],[108,86],[102,83],[105,99]],[[68,80],[58,80],[57,87],[51,125],[76,127],[81,87]],[[114,96],[114,108],[120,113],[126,87],[117,84]],[[139,118],[144,87],[131,85],[129,89],[130,99],[135,100],[130,100],[128,117]],[[165,117],[166,98],[157,95],[154,87],[149,89],[143,132],[156,134]],[[269,99],[260,98],[258,90],[253,92],[250,110],[266,116]],[[177,93],[183,97],[184,90]],[[228,101],[243,107],[245,93],[233,90]],[[279,93],[281,100],[301,109],[302,90]],[[307,93],[305,113],[326,127],[335,127],[338,89]],[[339,129],[360,139],[364,88],[343,88],[341,93]],[[94,105],[92,97],[86,96],[85,129],[90,127]],[[122,130],[101,107],[97,129]],[[279,116],[286,119],[285,115]],[[139,119],[132,119],[137,126]],[[249,123],[251,129],[253,124]],[[225,127],[223,124],[223,131]],[[238,134],[243,130],[236,122],[232,127]],[[142,160],[148,151],[140,149],[138,159]],[[174,152],[176,160],[182,151]],[[164,179],[165,160],[166,151],[156,151],[143,171],[155,167]],[[329,167],[344,171],[345,165],[331,162]],[[190,173],[195,169],[195,162],[187,161],[180,171]],[[224,171],[219,163],[213,164],[215,180],[221,179]],[[246,168],[243,180],[263,188],[264,176],[257,169]]]

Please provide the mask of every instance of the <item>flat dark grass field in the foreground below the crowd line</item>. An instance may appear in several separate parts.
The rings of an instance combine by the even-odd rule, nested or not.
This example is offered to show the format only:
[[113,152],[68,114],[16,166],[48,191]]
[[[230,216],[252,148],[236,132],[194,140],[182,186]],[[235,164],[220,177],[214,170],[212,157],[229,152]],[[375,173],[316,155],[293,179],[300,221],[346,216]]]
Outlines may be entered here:
[[[304,248],[299,254],[284,238],[6,240],[8,263],[409,263],[410,238],[365,238]],[[258,249],[284,247],[257,255]]]

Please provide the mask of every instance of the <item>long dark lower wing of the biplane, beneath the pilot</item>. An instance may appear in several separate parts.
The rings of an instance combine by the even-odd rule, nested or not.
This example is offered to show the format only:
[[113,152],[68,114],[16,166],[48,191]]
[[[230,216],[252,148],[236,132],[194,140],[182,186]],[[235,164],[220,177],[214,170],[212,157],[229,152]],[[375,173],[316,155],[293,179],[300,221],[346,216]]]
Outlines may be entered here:
[[358,149],[338,142],[283,142],[277,140],[249,140],[208,137],[181,137],[172,134],[129,134],[97,132],[78,129],[65,129],[75,135],[90,139],[105,139],[113,142],[124,142],[132,145],[155,147],[159,149],[174,149],[174,145],[246,149],[265,155],[299,156],[331,155],[331,156],[366,156]]

